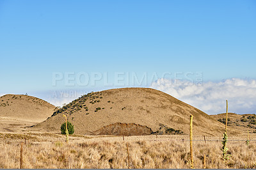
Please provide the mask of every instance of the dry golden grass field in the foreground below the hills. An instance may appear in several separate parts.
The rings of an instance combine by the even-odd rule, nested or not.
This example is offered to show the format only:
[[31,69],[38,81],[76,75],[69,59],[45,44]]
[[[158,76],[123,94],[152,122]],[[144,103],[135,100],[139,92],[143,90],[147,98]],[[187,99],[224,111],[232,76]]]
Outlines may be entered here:
[[[20,167],[20,142],[24,168],[189,168],[188,135],[146,136],[65,136],[51,133],[0,135],[0,168]],[[29,139],[29,141],[28,141]],[[227,147],[232,157],[221,160],[221,137],[194,137],[195,168],[255,168],[256,135],[247,146],[246,135],[229,137]],[[241,140],[241,141],[234,141]],[[129,146],[129,162],[127,158]]]

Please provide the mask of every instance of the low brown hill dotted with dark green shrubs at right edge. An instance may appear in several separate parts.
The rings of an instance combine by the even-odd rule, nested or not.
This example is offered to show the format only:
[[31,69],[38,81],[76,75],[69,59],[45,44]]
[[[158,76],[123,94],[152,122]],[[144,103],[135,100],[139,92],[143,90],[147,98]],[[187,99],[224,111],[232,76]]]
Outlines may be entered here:
[[[226,113],[211,115],[215,120],[221,123],[226,123]],[[236,128],[241,132],[246,133],[249,130],[250,133],[256,133],[256,115],[255,114],[236,114],[228,112],[228,127]]]

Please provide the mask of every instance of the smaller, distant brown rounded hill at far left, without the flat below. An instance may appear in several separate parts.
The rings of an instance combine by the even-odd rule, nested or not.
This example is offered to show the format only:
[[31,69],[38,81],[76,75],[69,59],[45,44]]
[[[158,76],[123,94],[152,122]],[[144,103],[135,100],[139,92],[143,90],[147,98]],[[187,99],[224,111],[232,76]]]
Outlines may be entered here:
[[0,97],[0,117],[44,121],[56,107],[44,100],[28,95]]

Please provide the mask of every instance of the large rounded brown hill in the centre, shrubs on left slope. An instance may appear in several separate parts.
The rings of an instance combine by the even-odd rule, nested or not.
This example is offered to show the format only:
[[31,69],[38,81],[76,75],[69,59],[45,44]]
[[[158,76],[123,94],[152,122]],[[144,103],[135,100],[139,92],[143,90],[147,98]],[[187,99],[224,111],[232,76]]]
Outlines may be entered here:
[[67,115],[68,121],[74,125],[75,134],[92,134],[95,131],[102,134],[100,128],[115,123],[134,123],[159,134],[189,134],[190,114],[194,116],[195,135],[221,135],[225,128],[223,123],[195,107],[149,88],[120,88],[88,93],[54,112],[51,118],[38,123],[33,129],[60,132],[61,123],[64,122],[62,114]]

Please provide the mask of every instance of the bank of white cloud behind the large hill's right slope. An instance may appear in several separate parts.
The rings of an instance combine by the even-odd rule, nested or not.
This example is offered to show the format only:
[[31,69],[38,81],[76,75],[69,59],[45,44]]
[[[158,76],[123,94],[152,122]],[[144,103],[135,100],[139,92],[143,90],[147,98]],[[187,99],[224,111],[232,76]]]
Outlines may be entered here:
[[220,82],[205,82],[201,86],[188,81],[158,79],[150,88],[164,91],[183,102],[206,112],[256,113],[256,80],[226,79]]

